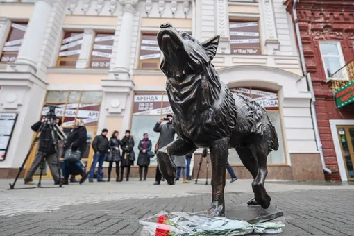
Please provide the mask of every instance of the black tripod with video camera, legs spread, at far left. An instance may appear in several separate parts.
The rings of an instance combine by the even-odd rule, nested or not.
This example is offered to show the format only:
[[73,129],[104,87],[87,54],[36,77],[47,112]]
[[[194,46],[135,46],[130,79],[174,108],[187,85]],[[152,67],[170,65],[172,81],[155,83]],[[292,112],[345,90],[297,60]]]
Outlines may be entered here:
[[[54,110],[55,110],[55,108],[54,108]],[[50,113],[50,112],[51,111],[49,111],[48,113]],[[42,133],[42,131],[45,128],[48,128],[48,126],[49,126],[49,128],[51,130],[51,137],[52,137],[52,140],[53,140],[52,144],[54,145],[54,149],[56,151],[56,162],[57,162],[58,174],[59,174],[59,187],[62,187],[61,176],[60,176],[60,160],[59,160],[58,137],[60,137],[61,140],[65,140],[67,137],[66,137],[65,133],[63,133],[62,130],[60,130],[58,124],[56,124],[55,113],[51,113],[51,114],[47,114],[46,119],[44,119],[44,121],[40,125],[40,128],[37,131],[37,135],[36,135],[35,139],[33,140],[30,149],[28,150],[26,158],[24,159],[24,162],[22,162],[21,167],[19,167],[19,171],[17,173],[17,176],[16,176],[14,182],[12,184],[10,184],[10,189],[8,189],[8,190],[15,189],[15,184],[17,182],[17,179],[19,178],[19,175],[21,174],[22,170],[24,169],[24,165],[26,165],[26,162],[27,162],[29,156],[31,155],[31,152],[33,151],[35,143],[38,140],[40,140],[40,134]],[[41,185],[43,170],[45,168],[45,162],[47,160],[47,156],[48,156],[47,153],[43,153],[42,159],[40,161],[40,179],[39,179],[38,184],[37,184],[37,187],[39,187],[39,188],[53,188],[53,187],[42,187],[42,185]],[[23,187],[23,188],[18,188],[18,189],[33,189],[33,188],[35,188],[35,187]]]

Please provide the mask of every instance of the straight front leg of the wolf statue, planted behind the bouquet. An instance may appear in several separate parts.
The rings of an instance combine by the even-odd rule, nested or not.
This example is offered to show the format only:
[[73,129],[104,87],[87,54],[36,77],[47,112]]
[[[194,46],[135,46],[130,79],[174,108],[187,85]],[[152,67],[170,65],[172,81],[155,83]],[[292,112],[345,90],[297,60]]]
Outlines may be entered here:
[[226,162],[228,162],[229,138],[225,137],[210,143],[212,161],[212,206],[206,211],[213,217],[225,216],[225,178]]

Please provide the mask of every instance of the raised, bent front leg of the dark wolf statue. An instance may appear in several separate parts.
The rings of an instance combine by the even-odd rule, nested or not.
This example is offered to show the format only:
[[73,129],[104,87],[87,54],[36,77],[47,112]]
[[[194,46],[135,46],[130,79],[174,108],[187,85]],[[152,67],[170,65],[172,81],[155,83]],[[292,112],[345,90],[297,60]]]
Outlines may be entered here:
[[176,177],[176,165],[172,160],[172,155],[186,155],[189,152],[195,151],[196,146],[190,140],[178,137],[176,140],[162,147],[156,153],[158,159],[158,167],[162,176],[167,180],[169,185],[174,184]]

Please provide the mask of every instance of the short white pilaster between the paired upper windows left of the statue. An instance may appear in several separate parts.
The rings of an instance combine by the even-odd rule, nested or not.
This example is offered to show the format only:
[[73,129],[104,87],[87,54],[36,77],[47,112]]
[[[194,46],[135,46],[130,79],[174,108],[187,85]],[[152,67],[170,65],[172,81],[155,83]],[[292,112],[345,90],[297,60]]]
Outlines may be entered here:
[[76,62],[76,68],[85,69],[88,67],[92,52],[92,42],[94,41],[94,30],[85,29],[83,32],[83,42],[81,44],[81,52]]

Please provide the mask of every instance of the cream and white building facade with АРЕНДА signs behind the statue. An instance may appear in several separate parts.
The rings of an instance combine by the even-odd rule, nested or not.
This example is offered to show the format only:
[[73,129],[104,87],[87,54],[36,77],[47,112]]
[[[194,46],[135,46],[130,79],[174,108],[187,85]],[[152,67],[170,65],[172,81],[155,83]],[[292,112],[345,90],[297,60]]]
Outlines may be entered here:
[[[31,124],[51,104],[65,132],[83,119],[87,146],[102,128],[130,129],[136,143],[146,132],[155,144],[153,126],[171,112],[155,38],[164,22],[200,41],[221,36],[213,60],[221,81],[259,101],[276,126],[280,148],[269,155],[269,178],[324,178],[311,94],[282,0],[1,1],[0,115],[8,134],[0,176],[14,176],[33,140]],[[91,149],[84,160],[90,165]],[[251,178],[233,150],[229,162],[240,178]]]

